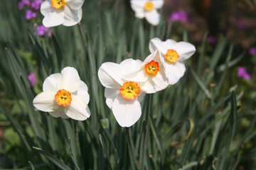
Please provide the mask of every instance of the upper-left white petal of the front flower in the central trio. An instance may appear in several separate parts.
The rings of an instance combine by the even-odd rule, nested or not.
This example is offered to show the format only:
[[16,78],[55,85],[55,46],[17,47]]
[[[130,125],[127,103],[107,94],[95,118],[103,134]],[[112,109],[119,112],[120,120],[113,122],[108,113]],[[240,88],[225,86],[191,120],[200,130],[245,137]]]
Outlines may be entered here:
[[103,86],[110,89],[120,89],[122,87],[122,67],[114,62],[105,62],[98,70],[98,77]]

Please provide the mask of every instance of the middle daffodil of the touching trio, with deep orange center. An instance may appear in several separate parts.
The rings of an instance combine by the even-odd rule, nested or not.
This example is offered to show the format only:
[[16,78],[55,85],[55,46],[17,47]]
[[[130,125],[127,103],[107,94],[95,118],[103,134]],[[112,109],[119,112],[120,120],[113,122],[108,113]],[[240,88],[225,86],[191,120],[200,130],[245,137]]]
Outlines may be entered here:
[[146,57],[144,62],[134,72],[124,74],[123,77],[129,81],[142,82],[140,87],[146,94],[161,91],[169,85],[164,58],[161,57],[158,50]]

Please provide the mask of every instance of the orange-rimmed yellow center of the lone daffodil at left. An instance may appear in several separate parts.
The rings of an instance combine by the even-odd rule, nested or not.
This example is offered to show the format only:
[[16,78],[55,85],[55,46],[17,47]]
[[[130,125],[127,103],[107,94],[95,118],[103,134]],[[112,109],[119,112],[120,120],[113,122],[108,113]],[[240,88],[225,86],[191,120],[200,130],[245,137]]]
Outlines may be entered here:
[[64,89],[57,91],[54,98],[58,106],[69,106],[72,101],[70,92]]

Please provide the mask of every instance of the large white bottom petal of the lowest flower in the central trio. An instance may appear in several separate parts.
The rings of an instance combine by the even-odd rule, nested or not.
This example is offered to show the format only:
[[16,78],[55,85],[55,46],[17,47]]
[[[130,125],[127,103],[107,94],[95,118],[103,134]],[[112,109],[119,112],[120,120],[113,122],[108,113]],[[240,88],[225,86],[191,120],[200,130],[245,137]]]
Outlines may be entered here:
[[129,101],[122,98],[121,95],[114,98],[112,111],[114,118],[122,127],[130,127],[139,120],[142,115],[142,107],[139,101]]

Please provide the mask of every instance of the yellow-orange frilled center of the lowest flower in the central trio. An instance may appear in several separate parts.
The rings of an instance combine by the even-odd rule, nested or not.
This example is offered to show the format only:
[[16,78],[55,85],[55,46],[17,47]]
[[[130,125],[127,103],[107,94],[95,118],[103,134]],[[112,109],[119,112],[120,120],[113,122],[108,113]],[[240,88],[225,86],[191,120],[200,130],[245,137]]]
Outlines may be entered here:
[[134,100],[139,96],[139,86],[133,81],[124,82],[123,86],[119,89],[119,93],[122,95],[122,98],[128,100]]

